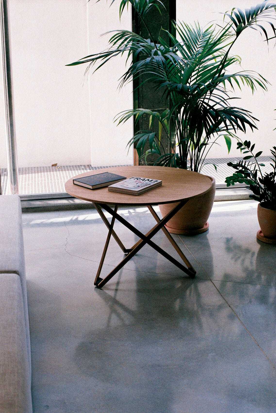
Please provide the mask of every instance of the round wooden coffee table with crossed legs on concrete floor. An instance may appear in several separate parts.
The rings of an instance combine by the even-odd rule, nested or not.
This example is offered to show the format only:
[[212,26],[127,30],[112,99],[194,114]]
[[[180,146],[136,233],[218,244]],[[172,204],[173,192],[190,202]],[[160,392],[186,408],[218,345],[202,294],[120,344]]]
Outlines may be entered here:
[[[118,192],[110,192],[107,187],[91,190],[73,184],[74,178],[96,175],[97,173],[107,171],[125,176],[126,178],[139,176],[142,178],[161,179],[162,186],[150,190],[149,192],[145,192],[142,195],[136,196],[120,194]],[[115,275],[125,265],[125,263],[127,263],[127,261],[129,261],[142,247],[144,247],[145,244],[149,244],[157,252],[165,256],[165,258],[167,258],[178,268],[182,269],[182,271],[188,274],[189,277],[195,277],[196,271],[192,267],[191,263],[189,263],[188,259],[185,257],[164,225],[172,218],[172,216],[177,213],[177,211],[179,211],[179,209],[183,207],[183,205],[186,204],[186,202],[189,201],[189,199],[197,197],[198,195],[203,195],[211,189],[212,181],[210,180],[210,178],[208,178],[208,176],[201,175],[192,171],[186,171],[185,169],[167,168],[163,166],[118,166],[115,168],[108,168],[104,170],[98,169],[96,171],[85,172],[78,176],[75,176],[74,178],[71,178],[66,182],[66,192],[68,192],[68,194],[72,195],[73,197],[92,202],[94,204],[94,207],[99,212],[102,220],[106,224],[107,228],[109,229],[104,251],[101,256],[99,269],[94,281],[94,285],[96,285],[96,287],[103,287],[106,282],[108,282],[113,277],[113,275]],[[158,204],[168,204],[171,202],[176,203],[175,208],[173,208],[163,219],[160,219],[152,206]],[[115,205],[115,208],[112,209],[110,205]],[[117,214],[117,209],[120,205],[146,205],[155,218],[157,222],[156,225],[151,228],[151,230],[146,233],[146,235],[142,234],[137,228],[128,223],[125,218]],[[102,209],[106,210],[112,215],[111,223],[109,223],[109,221],[107,220]],[[140,237],[140,240],[131,248],[125,248],[118,235],[113,230],[115,219],[120,221],[135,235],[138,235]],[[165,252],[162,248],[158,247],[158,245],[151,240],[151,238],[160,229],[163,230],[172,246],[175,248],[179,256],[186,264],[187,268],[182,263],[179,263],[176,259],[170,256],[170,254]],[[104,263],[104,258],[106,256],[106,251],[111,235],[114,237],[123,252],[127,255],[104,279],[102,279],[100,278],[101,268]]]

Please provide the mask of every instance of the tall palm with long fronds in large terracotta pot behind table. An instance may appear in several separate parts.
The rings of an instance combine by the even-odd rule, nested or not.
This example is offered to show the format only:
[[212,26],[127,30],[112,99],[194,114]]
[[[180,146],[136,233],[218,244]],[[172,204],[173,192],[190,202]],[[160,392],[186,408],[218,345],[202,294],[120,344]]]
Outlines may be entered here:
[[[159,0],[122,0],[120,16],[129,4],[145,26],[146,13],[153,7],[159,10],[164,7]],[[168,101],[168,108],[162,113],[149,108],[134,108],[118,114],[119,124],[132,117],[136,122],[141,116],[148,117],[148,130],[135,133],[129,145],[136,145],[140,158],[146,159],[153,154],[155,165],[200,173],[212,145],[224,139],[229,153],[231,138],[236,137],[237,131],[245,133],[248,127],[251,130],[257,128],[257,119],[249,111],[232,104],[235,97],[231,90],[244,85],[252,92],[257,86],[267,90],[267,81],[255,72],[233,71],[240,58],[230,55],[230,50],[247,28],[263,33],[267,41],[269,29],[275,36],[275,7],[276,4],[266,0],[245,12],[232,9],[224,14],[222,24],[210,24],[205,28],[199,24],[174,23],[177,37],[161,30],[158,41],[147,26],[149,38],[142,38],[132,31],[117,30],[112,33],[107,50],[71,65],[95,65],[97,70],[113,57],[125,54],[130,64],[120,79],[120,87],[147,74],[145,81],[153,85],[152,92],[161,90]],[[165,36],[169,37],[169,43]],[[167,137],[168,145],[163,145],[161,133]],[[145,150],[146,145],[149,150]],[[215,197],[215,179],[210,179],[210,193],[204,195],[204,199],[189,201],[174,220],[167,223],[170,232],[189,234],[208,229],[207,219]],[[166,214],[172,207],[170,204],[160,206],[161,214]]]

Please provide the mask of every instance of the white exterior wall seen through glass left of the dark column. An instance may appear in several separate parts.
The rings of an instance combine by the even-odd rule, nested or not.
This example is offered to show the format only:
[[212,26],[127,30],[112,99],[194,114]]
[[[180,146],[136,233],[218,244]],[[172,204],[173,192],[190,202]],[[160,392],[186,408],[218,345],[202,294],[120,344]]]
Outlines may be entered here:
[[[132,88],[120,94],[116,90],[122,59],[97,76],[90,74],[90,85],[85,64],[65,66],[100,51],[107,38],[99,35],[120,27],[116,5],[109,9],[104,0],[93,3],[9,0],[19,167],[132,163],[125,150],[132,122],[118,128],[113,124],[118,112],[132,107]],[[121,27],[131,27],[130,13]],[[6,166],[2,96],[0,166]]]

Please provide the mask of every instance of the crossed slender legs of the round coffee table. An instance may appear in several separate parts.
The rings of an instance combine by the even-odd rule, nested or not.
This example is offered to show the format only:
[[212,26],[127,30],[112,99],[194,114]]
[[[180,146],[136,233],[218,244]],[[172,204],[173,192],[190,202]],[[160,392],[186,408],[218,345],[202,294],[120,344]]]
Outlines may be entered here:
[[[195,275],[196,275],[196,271],[194,270],[191,263],[188,261],[186,256],[183,254],[183,252],[181,251],[181,249],[179,248],[179,246],[177,245],[175,240],[172,238],[172,236],[170,235],[170,233],[167,231],[167,229],[164,226],[167,223],[167,221],[169,221],[177,213],[177,211],[179,211],[179,209],[181,209],[183,207],[183,205],[186,204],[186,202],[188,202],[188,201],[184,200],[182,202],[179,202],[179,204],[177,204],[176,207],[174,209],[172,209],[163,219],[160,219],[158,217],[158,215],[154,211],[153,207],[151,207],[151,205],[147,205],[149,211],[151,212],[151,214],[153,215],[153,217],[155,218],[157,223],[145,235],[143,233],[141,233],[139,230],[137,230],[137,228],[135,228],[129,222],[127,222],[122,216],[117,214],[118,205],[116,205],[114,210],[113,210],[111,207],[109,207],[106,204],[96,204],[96,203],[94,203],[94,206],[97,209],[99,215],[101,216],[102,220],[104,221],[107,228],[109,229],[109,233],[108,233],[107,238],[106,238],[104,251],[103,251],[102,256],[101,256],[101,261],[99,263],[99,268],[98,268],[97,275],[96,275],[96,278],[95,278],[95,281],[94,281],[94,285],[96,285],[97,288],[103,287],[106,284],[106,282],[108,282],[113,277],[113,275],[115,275],[146,244],[149,244],[153,249],[155,249],[157,252],[159,252],[159,254],[163,255],[165,258],[167,258],[169,261],[171,261],[173,264],[175,264],[175,266],[177,266],[182,271],[184,271],[184,273],[188,274],[189,277],[194,278]],[[109,214],[112,215],[111,223],[109,223],[109,221],[107,220],[107,218],[104,215],[102,209],[105,209],[106,212],[109,212]],[[118,235],[113,230],[115,219],[117,219],[120,223],[125,225],[125,227],[127,227],[129,230],[131,230],[135,235],[138,235],[138,237],[140,237],[140,240],[138,242],[136,242],[136,244],[134,244],[131,248],[125,248],[123,243],[119,239]],[[170,254],[165,252],[162,248],[158,247],[158,245],[155,244],[155,242],[151,241],[151,238],[154,235],[156,235],[156,233],[158,233],[158,231],[160,229],[163,230],[166,237],[168,238],[168,240],[170,241],[172,246],[175,248],[175,250],[177,251],[177,253],[181,257],[182,261],[184,261],[184,263],[186,264],[187,268],[182,263],[179,263],[175,258],[170,256]],[[104,259],[105,259],[105,256],[106,256],[107,248],[109,246],[109,241],[110,241],[111,235],[114,237],[114,239],[116,240],[116,242],[118,243],[120,248],[123,250],[123,252],[127,255],[115,268],[113,268],[113,270],[108,275],[106,275],[105,278],[100,278],[101,269],[102,269],[102,266],[104,264]]]

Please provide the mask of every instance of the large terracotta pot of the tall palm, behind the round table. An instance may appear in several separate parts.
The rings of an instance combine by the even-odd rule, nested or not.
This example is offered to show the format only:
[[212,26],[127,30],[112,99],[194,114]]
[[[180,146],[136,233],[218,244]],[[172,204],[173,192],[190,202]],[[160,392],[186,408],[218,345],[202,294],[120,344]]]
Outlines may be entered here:
[[[215,178],[211,176],[208,176],[208,178],[212,180],[210,190],[204,195],[190,199],[165,225],[171,234],[196,235],[208,230],[209,223],[207,220],[211,213],[216,192]],[[175,203],[159,205],[163,217],[174,207]]]

